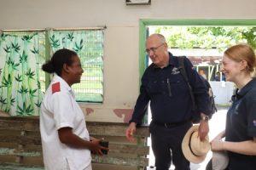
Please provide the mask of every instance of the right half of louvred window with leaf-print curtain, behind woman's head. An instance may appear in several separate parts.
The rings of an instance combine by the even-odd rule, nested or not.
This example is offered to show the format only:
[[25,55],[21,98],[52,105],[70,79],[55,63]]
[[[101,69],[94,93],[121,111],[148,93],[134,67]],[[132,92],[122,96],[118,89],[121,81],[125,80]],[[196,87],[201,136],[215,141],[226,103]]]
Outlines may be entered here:
[[74,84],[77,101],[103,100],[103,29],[81,31],[49,31],[51,54],[61,48],[75,51],[84,74],[81,83]]

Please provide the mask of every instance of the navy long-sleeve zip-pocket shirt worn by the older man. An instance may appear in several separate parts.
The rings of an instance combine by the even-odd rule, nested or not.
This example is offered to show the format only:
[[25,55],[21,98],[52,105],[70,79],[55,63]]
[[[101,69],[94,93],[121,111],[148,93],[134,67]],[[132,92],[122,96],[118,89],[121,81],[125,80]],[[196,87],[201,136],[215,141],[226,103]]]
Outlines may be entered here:
[[[207,88],[189,59],[184,59],[189,82],[199,111],[209,115]],[[169,53],[169,64],[160,68],[151,64],[142,77],[142,85],[130,122],[141,123],[150,101],[154,122],[183,122],[192,116],[189,88],[178,69],[177,57]]]

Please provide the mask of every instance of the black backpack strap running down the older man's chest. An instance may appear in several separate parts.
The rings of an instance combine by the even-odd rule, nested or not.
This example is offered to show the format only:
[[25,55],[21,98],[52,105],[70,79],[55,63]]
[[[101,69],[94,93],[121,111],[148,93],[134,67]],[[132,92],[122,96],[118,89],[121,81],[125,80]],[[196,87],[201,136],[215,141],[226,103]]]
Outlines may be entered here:
[[189,83],[189,77],[188,77],[187,71],[185,69],[185,65],[184,65],[184,59],[185,58],[186,58],[185,56],[178,56],[177,57],[178,70],[182,74],[185,82],[187,83],[187,85],[189,87],[189,94],[190,94],[190,97],[191,97],[191,100],[192,100],[192,110],[195,111],[196,110],[195,96],[193,94],[192,87],[191,87],[191,85]]

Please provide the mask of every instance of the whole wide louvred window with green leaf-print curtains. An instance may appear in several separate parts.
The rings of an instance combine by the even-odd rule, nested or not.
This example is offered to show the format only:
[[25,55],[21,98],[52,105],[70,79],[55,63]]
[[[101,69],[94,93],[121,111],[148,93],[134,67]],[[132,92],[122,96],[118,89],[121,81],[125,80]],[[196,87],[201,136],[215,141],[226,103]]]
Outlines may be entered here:
[[77,101],[103,101],[103,28],[65,31],[3,31],[0,37],[0,110],[39,115],[50,75],[42,65],[60,48],[79,54],[84,74],[73,85]]

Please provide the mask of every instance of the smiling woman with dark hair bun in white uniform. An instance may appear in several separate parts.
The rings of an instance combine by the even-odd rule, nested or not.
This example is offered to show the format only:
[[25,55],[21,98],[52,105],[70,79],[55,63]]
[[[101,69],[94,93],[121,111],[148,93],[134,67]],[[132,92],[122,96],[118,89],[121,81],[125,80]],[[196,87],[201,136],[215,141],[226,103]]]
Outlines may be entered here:
[[102,149],[107,148],[99,144],[100,140],[90,138],[71,88],[80,82],[84,72],[79,56],[72,50],[60,49],[42,69],[55,73],[40,114],[45,170],[91,170],[90,151],[102,155]]

